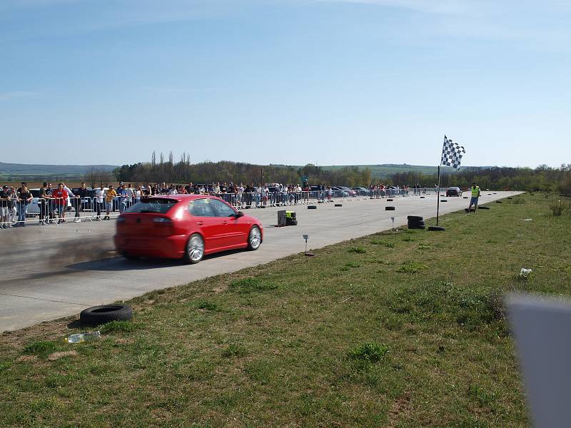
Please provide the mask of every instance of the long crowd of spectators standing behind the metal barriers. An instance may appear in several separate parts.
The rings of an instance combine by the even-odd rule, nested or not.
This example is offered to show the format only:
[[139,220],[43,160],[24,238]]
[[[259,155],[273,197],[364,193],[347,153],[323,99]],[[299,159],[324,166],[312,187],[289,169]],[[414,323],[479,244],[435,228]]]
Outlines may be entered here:
[[[237,208],[266,208],[266,206],[293,205],[307,203],[311,198],[316,198],[322,203],[338,196],[362,195],[371,198],[384,198],[393,195],[408,195],[410,188],[403,186],[385,186],[383,183],[370,183],[367,188],[357,188],[356,193],[349,188],[340,190],[329,185],[310,186],[307,181],[303,185],[282,183],[211,183],[198,184],[124,184],[119,183],[115,189],[113,185],[91,189],[85,183],[73,190],[66,183],[58,183],[56,187],[52,183],[44,182],[41,188],[28,188],[26,182],[22,182],[18,188],[13,185],[4,185],[0,190],[0,228],[24,227],[26,215],[32,200],[37,198],[37,212],[39,225],[66,223],[66,214],[74,210],[74,222],[81,222],[82,212],[91,210],[96,213],[94,220],[110,220],[111,213],[122,213],[134,203],[145,196],[156,195],[214,195],[226,200]],[[34,191],[34,195],[32,194]],[[415,195],[426,193],[426,186],[416,184],[413,186]],[[89,217],[91,219],[91,215]]]

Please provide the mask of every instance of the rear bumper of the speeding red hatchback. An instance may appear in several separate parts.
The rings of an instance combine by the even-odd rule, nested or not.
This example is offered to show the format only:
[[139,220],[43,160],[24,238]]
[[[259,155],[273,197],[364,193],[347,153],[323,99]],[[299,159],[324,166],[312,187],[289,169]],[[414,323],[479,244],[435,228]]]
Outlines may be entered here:
[[186,235],[136,236],[115,235],[115,248],[120,254],[156,258],[181,258],[186,251]]

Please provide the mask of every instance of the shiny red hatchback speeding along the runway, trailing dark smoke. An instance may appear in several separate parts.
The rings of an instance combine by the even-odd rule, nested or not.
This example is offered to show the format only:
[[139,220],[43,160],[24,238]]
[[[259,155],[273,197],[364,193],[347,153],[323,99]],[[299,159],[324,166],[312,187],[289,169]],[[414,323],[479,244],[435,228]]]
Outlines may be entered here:
[[220,198],[163,195],[141,199],[119,215],[114,240],[126,258],[184,258],[198,263],[218,251],[258,250],[262,234],[257,218]]

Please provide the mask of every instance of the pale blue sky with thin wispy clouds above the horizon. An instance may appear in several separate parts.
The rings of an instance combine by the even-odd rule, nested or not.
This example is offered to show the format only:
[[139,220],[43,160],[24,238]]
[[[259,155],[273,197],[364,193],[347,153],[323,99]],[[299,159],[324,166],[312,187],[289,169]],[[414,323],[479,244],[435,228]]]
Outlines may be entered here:
[[571,2],[2,0],[15,163],[571,163]]

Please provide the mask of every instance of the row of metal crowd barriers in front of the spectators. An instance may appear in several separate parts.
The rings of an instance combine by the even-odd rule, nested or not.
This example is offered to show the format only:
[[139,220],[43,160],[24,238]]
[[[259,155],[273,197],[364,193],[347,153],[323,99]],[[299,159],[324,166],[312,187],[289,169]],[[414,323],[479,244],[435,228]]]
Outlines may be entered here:
[[[360,190],[360,194],[346,195],[340,190],[311,190],[301,192],[266,192],[266,193],[221,193],[218,196],[238,210],[249,208],[269,208],[287,205],[310,205],[328,202],[353,202],[353,200],[407,197],[410,195],[433,195],[437,193],[437,188],[385,188],[373,190]],[[445,193],[445,188],[440,188],[440,193]],[[30,225],[30,224],[57,224],[59,222],[58,207],[62,206],[66,223],[78,220],[98,221],[103,218],[116,218],[136,203],[136,198],[127,198],[124,195],[117,195],[111,200],[103,197],[103,202],[98,198],[69,198],[68,200],[58,200],[57,198],[38,199],[33,203],[24,205],[13,203],[13,208],[9,210],[8,223],[6,225]],[[19,212],[25,208],[26,215],[24,221],[19,218]],[[29,209],[31,208],[31,209]],[[108,215],[107,215],[108,212]]]

